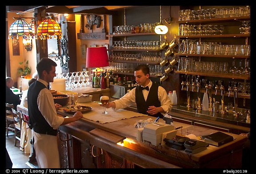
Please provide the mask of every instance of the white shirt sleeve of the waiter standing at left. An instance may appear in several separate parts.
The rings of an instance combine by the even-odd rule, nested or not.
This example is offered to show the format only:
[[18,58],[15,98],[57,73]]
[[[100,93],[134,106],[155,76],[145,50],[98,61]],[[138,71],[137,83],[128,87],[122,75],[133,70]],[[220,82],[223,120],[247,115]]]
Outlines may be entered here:
[[64,118],[57,116],[52,93],[48,89],[42,89],[37,97],[38,109],[45,120],[53,129],[57,129],[63,123]]

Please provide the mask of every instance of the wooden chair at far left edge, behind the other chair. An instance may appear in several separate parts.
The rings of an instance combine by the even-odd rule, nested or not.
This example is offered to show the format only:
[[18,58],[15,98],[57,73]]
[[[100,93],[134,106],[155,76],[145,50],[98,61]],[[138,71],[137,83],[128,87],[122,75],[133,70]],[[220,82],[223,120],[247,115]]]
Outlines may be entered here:
[[[8,108],[11,110],[8,110]],[[14,132],[14,121],[13,121],[12,108],[14,108],[13,104],[5,103],[6,136],[8,136],[9,131]]]

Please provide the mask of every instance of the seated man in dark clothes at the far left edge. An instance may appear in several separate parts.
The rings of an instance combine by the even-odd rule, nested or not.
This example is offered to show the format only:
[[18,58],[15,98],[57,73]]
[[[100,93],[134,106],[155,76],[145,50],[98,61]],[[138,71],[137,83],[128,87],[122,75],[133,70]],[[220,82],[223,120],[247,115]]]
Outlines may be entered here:
[[20,104],[20,96],[15,95],[11,88],[13,86],[13,80],[12,77],[6,77],[5,78],[5,85],[6,85],[6,89],[5,89],[5,103],[8,104],[13,104],[14,105],[14,109],[17,110],[17,105]]

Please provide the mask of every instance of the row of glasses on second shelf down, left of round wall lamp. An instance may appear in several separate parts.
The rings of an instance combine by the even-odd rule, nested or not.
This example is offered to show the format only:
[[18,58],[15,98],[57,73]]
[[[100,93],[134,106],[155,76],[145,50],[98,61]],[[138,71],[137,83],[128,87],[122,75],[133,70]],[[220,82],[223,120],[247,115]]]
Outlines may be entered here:
[[160,50],[160,41],[139,41],[139,40],[113,41],[112,49]]

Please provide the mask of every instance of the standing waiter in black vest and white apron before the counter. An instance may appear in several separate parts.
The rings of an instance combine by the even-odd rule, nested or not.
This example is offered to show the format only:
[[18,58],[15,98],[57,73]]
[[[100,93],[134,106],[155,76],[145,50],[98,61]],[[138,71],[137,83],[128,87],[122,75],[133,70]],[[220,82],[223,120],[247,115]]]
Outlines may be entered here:
[[29,128],[33,129],[36,161],[41,168],[60,168],[57,129],[83,117],[80,111],[72,117],[57,116],[52,93],[47,88],[56,77],[56,66],[51,59],[42,58],[36,66],[37,81],[28,88]]

